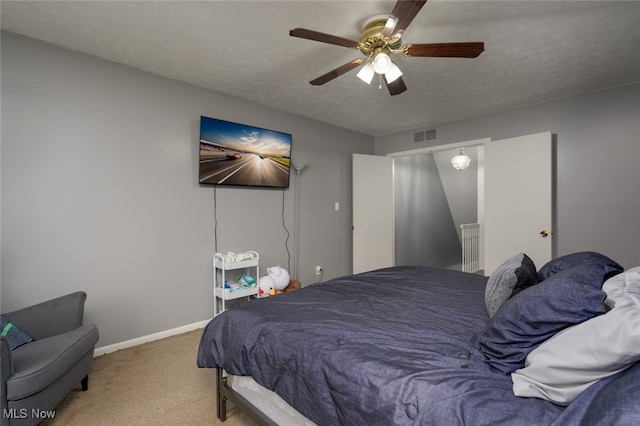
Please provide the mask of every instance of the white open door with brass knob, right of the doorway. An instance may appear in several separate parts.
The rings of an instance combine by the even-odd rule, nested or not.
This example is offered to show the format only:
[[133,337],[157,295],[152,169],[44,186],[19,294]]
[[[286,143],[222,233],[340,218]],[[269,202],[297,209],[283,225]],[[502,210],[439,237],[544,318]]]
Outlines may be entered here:
[[485,144],[485,275],[521,252],[551,259],[551,153],[551,132]]

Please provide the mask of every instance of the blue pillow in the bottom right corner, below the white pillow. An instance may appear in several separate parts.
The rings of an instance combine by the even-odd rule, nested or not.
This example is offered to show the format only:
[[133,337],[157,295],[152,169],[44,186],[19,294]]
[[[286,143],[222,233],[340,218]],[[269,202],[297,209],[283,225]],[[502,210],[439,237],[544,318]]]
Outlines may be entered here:
[[640,423],[640,404],[638,403],[640,362],[618,375],[616,380],[596,393],[581,424],[631,426]]

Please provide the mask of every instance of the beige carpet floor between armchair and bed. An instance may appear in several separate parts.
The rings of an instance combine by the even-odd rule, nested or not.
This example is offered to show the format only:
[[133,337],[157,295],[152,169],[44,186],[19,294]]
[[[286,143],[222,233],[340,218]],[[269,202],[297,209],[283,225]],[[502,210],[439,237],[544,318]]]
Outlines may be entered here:
[[243,413],[216,417],[215,370],[196,365],[202,330],[145,343],[94,359],[89,389],[80,386],[42,425],[253,426]]

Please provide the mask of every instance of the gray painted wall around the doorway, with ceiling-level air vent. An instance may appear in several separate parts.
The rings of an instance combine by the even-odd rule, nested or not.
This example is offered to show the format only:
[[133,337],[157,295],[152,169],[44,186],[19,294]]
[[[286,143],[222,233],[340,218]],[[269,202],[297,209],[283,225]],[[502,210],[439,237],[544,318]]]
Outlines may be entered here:
[[[438,135],[430,146],[553,132],[555,255],[595,250],[629,268],[640,265],[639,111],[634,84],[429,126]],[[427,146],[413,142],[419,130],[376,137],[375,153]]]

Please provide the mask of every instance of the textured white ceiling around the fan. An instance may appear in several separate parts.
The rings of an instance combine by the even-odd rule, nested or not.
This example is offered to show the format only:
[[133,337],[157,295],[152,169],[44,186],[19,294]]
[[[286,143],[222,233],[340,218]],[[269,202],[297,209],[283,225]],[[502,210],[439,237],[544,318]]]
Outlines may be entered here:
[[476,59],[393,59],[408,90],[390,96],[351,71],[361,56],[289,36],[305,27],[354,40],[395,1],[7,1],[2,29],[370,135],[640,81],[640,2],[434,1],[404,43],[484,41]]

